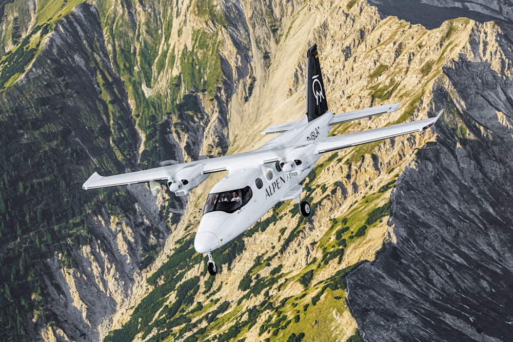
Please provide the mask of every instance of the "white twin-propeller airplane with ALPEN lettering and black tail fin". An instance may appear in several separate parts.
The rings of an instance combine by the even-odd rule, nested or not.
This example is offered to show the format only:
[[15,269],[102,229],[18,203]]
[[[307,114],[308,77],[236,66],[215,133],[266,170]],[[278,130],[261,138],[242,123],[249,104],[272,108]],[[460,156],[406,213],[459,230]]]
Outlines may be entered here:
[[277,203],[296,199],[301,213],[310,215],[310,205],[301,201],[300,183],[323,153],[425,130],[443,112],[424,120],[328,137],[333,125],[393,112],[400,103],[333,114],[328,111],[317,45],[308,49],[307,66],[306,115],[299,121],[268,127],[262,134],[282,134],[259,149],[107,177],[95,172],[82,187],[165,182],[171,192],[183,196],[211,173],[228,171],[208,194],[194,238],[194,249],[208,255],[208,272],[215,275],[211,252],[241,235]]

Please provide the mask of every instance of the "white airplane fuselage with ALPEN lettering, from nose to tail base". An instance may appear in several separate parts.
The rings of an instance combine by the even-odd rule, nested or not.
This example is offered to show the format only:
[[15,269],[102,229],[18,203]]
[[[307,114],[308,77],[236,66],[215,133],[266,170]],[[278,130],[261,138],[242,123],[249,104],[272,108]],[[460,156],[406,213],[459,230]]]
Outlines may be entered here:
[[[299,149],[291,149],[289,154],[293,155],[294,160],[309,160],[306,168],[297,165],[292,172],[285,172],[280,166],[283,160],[270,160],[256,168],[241,166],[239,169],[229,170],[208,195],[194,238],[196,252],[209,253],[229,243],[276,204],[299,198],[302,191],[300,183],[321,157],[320,154],[308,153],[308,146],[313,140],[328,137],[331,131],[328,123],[332,117],[331,112],[326,112],[308,122],[305,116],[293,129],[274,137],[258,149],[298,146],[304,143]],[[238,197],[239,202],[236,199]]]

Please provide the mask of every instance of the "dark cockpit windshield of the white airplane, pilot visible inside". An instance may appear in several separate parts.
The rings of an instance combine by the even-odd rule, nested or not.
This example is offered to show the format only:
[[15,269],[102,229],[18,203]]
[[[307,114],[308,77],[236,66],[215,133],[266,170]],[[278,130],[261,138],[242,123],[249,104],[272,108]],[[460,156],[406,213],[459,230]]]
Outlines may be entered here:
[[235,212],[244,207],[252,196],[250,187],[208,194],[203,215],[211,211]]

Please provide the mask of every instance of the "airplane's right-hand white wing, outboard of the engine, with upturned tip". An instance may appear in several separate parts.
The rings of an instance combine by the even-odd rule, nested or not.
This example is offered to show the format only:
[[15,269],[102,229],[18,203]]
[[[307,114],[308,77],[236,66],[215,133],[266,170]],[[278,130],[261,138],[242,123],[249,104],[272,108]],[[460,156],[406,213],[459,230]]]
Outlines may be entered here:
[[315,143],[315,145],[317,145],[317,153],[336,151],[398,135],[423,131],[435,124],[442,113],[443,110],[441,110],[436,117],[429,119],[324,138]]

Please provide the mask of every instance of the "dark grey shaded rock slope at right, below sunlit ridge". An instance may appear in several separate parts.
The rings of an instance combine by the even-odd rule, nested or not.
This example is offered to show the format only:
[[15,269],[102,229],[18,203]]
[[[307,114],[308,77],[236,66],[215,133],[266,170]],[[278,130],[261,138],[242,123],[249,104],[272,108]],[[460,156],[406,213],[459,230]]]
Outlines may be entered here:
[[513,334],[510,34],[476,25],[467,53],[444,66],[433,88],[433,100],[452,109],[391,195],[397,243],[346,278],[365,340]]

